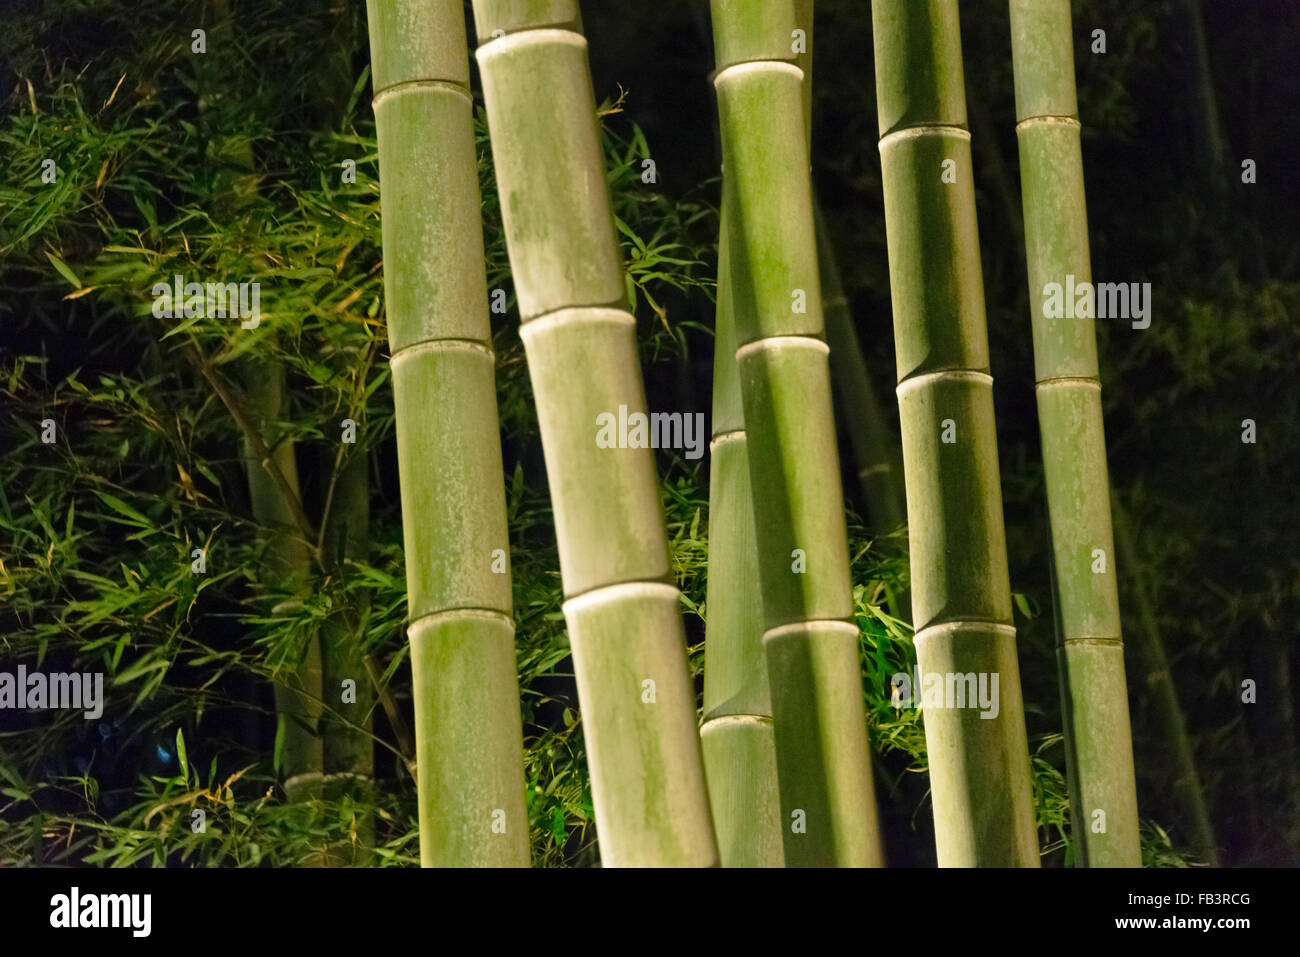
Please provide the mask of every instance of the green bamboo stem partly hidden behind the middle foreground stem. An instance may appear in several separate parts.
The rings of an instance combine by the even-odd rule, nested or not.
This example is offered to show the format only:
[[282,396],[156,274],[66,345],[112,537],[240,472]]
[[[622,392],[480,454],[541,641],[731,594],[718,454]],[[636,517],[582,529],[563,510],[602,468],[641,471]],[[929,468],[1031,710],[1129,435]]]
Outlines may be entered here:
[[749,439],[736,364],[729,229],[718,237],[714,434],[708,445],[708,581],[705,596],[705,722],[701,744],[724,867],[780,867],[781,805],[772,696],[763,658],[763,607]]

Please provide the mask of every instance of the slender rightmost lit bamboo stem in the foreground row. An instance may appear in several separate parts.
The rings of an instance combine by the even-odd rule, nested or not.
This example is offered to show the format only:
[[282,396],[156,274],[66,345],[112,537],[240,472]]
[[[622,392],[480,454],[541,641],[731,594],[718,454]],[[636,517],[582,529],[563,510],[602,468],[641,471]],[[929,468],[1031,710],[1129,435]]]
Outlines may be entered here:
[[1069,0],[1010,0],[1034,369],[1056,571],[1071,836],[1087,867],[1140,867],[1138,792],[1093,321],[1044,290],[1092,281]]

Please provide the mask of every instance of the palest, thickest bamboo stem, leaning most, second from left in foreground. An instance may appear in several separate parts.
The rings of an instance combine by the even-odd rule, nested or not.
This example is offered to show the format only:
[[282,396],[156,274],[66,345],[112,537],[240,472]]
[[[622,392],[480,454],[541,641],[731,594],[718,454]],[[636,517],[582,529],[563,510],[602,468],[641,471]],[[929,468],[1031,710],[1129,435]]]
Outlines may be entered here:
[[474,21],[601,859],[716,865],[654,454],[597,443],[646,399],[577,4],[474,0]]

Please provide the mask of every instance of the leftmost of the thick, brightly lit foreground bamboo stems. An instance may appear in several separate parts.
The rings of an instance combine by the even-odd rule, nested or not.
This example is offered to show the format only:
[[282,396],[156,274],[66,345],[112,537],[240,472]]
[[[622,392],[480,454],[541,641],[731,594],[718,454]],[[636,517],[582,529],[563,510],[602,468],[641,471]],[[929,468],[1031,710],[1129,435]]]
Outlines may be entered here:
[[526,866],[506,492],[465,22],[369,0],[420,861]]

